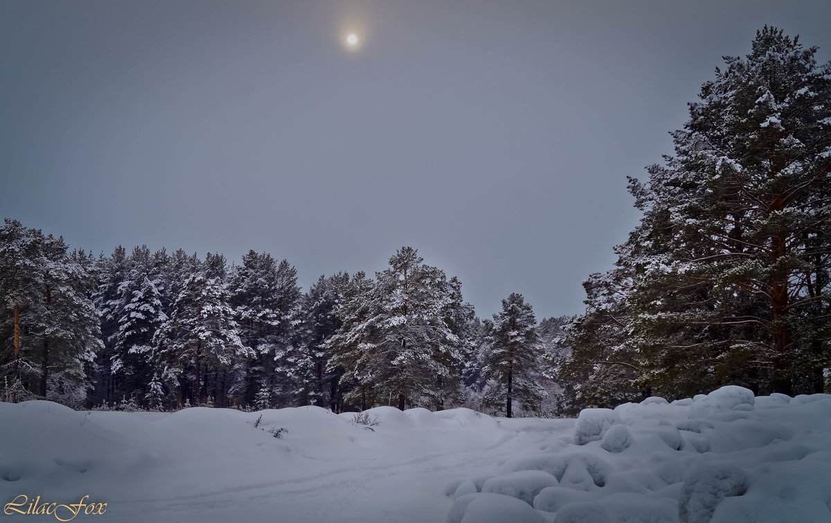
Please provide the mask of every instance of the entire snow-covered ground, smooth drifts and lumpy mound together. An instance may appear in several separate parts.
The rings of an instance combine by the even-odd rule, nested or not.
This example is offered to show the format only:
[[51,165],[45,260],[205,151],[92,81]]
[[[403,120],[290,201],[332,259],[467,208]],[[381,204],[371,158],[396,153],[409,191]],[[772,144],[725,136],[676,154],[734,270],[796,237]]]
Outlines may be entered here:
[[107,503],[73,521],[831,521],[828,395],[724,387],[578,420],[368,412],[0,403],[0,502]]

